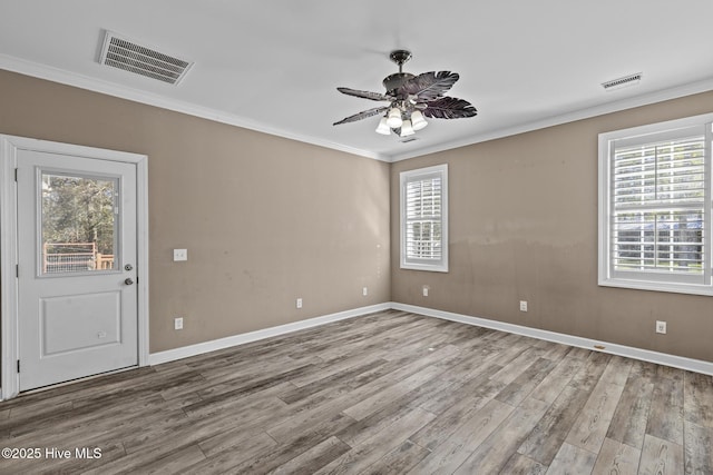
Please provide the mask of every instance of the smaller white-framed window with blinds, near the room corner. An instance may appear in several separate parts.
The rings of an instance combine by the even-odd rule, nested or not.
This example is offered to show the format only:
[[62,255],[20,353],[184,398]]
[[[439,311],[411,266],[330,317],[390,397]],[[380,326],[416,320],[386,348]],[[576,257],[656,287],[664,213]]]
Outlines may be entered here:
[[401,268],[448,271],[448,165],[401,172]]

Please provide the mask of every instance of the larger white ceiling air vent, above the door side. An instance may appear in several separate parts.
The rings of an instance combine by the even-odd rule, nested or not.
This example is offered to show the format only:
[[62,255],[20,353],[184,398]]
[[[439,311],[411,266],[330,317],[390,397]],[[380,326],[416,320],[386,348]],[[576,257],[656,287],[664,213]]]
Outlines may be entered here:
[[192,61],[157,51],[133,40],[107,31],[101,47],[99,63],[113,68],[177,85],[193,66]]

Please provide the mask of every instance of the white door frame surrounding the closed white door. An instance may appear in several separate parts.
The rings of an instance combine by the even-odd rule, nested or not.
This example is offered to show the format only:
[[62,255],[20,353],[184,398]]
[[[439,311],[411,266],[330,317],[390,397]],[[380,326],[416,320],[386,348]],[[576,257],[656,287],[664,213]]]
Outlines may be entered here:
[[0,135],[0,400],[20,392],[18,315],[17,151],[32,150],[136,167],[138,366],[148,365],[148,157],[78,145]]

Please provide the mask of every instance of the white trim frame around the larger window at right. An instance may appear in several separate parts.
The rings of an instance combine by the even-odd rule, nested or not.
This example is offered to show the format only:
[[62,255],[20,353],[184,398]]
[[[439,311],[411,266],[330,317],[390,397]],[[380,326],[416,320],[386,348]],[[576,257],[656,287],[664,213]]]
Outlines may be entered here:
[[[651,123],[628,129],[615,130],[599,133],[598,140],[598,285],[606,287],[621,287],[642,290],[668,291],[677,294],[713,295],[713,250],[712,221],[713,204],[711,180],[713,175],[713,160],[711,157],[711,146],[713,133],[711,123],[713,113],[693,116],[683,119],[668,120],[664,122]],[[615,140],[627,139],[633,142],[654,142],[666,132],[675,133],[676,129],[684,129],[693,126],[705,126],[704,159],[705,159],[705,197],[704,197],[704,243],[703,243],[703,278],[701,283],[671,281],[665,279],[663,273],[637,273],[634,276],[624,278],[613,269],[611,236],[612,217],[612,184],[611,184],[611,159]],[[681,279],[685,280],[685,279]]]

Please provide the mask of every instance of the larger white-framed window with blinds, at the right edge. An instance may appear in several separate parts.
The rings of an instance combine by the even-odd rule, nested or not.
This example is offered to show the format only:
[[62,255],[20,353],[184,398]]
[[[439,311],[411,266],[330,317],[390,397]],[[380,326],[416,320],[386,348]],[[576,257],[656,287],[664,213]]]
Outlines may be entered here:
[[599,135],[599,285],[713,295],[711,122]]

